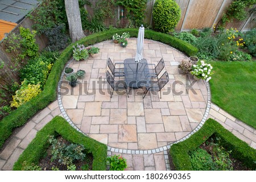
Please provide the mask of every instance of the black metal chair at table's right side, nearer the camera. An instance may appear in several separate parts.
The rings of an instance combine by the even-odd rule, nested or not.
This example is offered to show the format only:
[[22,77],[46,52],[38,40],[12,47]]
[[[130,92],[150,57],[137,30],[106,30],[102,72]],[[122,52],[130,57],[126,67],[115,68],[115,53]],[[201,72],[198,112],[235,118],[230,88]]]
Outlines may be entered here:
[[160,98],[162,98],[161,89],[164,87],[164,85],[167,84],[168,81],[168,73],[164,72],[163,75],[160,78],[158,78],[157,81],[151,81],[150,86],[146,86],[146,93],[144,94],[143,98],[146,96],[148,91],[160,92]]

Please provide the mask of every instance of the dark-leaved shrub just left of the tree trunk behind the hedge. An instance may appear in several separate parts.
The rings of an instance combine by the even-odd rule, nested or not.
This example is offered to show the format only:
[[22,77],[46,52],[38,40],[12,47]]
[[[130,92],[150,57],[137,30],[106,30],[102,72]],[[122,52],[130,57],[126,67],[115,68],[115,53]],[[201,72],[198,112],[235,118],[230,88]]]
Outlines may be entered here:
[[61,23],[54,25],[51,28],[46,28],[44,31],[48,38],[47,46],[52,51],[60,51],[64,49],[69,39],[69,36],[65,33],[65,24]]

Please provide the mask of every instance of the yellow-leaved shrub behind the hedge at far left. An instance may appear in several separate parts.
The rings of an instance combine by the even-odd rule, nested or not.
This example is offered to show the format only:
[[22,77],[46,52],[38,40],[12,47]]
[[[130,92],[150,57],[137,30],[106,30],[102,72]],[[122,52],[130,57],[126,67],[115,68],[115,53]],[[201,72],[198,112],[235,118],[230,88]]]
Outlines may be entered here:
[[32,98],[37,96],[42,90],[40,89],[40,84],[31,85],[24,84],[26,80],[22,82],[22,86],[19,90],[15,92],[13,96],[13,101],[11,101],[11,107],[19,107],[30,101]]

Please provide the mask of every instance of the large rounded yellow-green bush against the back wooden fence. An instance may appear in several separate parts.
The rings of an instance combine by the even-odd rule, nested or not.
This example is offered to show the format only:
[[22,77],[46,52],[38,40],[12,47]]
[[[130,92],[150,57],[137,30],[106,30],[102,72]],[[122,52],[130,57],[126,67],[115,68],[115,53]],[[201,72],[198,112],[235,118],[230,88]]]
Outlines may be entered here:
[[180,20],[180,7],[174,0],[157,0],[153,7],[155,29],[172,32]]

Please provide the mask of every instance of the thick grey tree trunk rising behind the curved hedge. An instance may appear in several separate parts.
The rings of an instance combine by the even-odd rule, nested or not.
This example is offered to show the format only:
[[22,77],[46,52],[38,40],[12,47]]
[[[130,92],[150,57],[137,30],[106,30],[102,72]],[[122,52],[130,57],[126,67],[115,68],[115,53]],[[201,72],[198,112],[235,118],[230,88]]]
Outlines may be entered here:
[[72,42],[83,38],[81,15],[78,0],[65,0],[65,10],[68,17],[69,35]]

